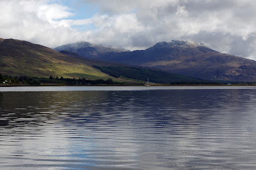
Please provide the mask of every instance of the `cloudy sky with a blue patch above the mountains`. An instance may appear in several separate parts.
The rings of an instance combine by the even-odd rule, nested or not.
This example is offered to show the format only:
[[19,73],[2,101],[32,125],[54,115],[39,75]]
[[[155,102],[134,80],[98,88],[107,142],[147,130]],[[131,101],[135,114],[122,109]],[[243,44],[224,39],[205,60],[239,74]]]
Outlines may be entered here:
[[191,40],[256,60],[254,0],[0,0],[0,38],[124,49]]

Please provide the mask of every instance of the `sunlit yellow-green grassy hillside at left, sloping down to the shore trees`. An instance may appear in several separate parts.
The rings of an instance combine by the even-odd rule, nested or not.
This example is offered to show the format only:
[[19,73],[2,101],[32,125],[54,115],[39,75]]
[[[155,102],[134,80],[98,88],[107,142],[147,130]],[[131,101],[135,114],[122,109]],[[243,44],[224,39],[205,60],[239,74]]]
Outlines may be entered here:
[[88,65],[83,59],[61,54],[42,45],[12,39],[0,41],[0,68],[4,75],[58,75],[86,79],[111,77]]

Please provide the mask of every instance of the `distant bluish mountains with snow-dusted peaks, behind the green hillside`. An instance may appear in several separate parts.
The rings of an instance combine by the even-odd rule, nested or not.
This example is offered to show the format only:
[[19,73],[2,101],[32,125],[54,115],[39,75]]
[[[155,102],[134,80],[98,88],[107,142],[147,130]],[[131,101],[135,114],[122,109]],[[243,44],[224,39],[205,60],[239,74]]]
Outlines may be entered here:
[[55,50],[60,49],[76,52],[86,58],[157,68],[198,79],[256,81],[256,61],[222,54],[200,42],[172,40],[134,51],[78,42],[61,45]]

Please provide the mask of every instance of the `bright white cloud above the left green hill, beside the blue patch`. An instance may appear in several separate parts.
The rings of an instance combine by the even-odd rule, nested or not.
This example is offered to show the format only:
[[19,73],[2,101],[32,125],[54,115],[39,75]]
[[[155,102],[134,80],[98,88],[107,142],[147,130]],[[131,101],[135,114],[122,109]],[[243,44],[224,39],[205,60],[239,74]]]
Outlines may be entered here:
[[[72,13],[60,4],[47,1],[0,1],[0,36],[28,40],[54,47],[61,35],[70,35],[72,30],[56,21],[70,17]],[[67,37],[66,37],[67,38]]]

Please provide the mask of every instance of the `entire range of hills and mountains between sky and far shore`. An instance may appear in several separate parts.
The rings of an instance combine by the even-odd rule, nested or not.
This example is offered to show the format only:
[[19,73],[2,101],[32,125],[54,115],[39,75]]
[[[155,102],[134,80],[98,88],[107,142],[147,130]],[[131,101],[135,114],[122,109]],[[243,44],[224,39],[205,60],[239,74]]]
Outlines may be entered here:
[[[58,52],[58,51],[59,52]],[[256,81],[256,61],[222,54],[203,43],[172,40],[145,50],[88,42],[49,49],[0,38],[0,73],[30,77],[83,77],[116,81]],[[192,78],[194,77],[194,78]]]

